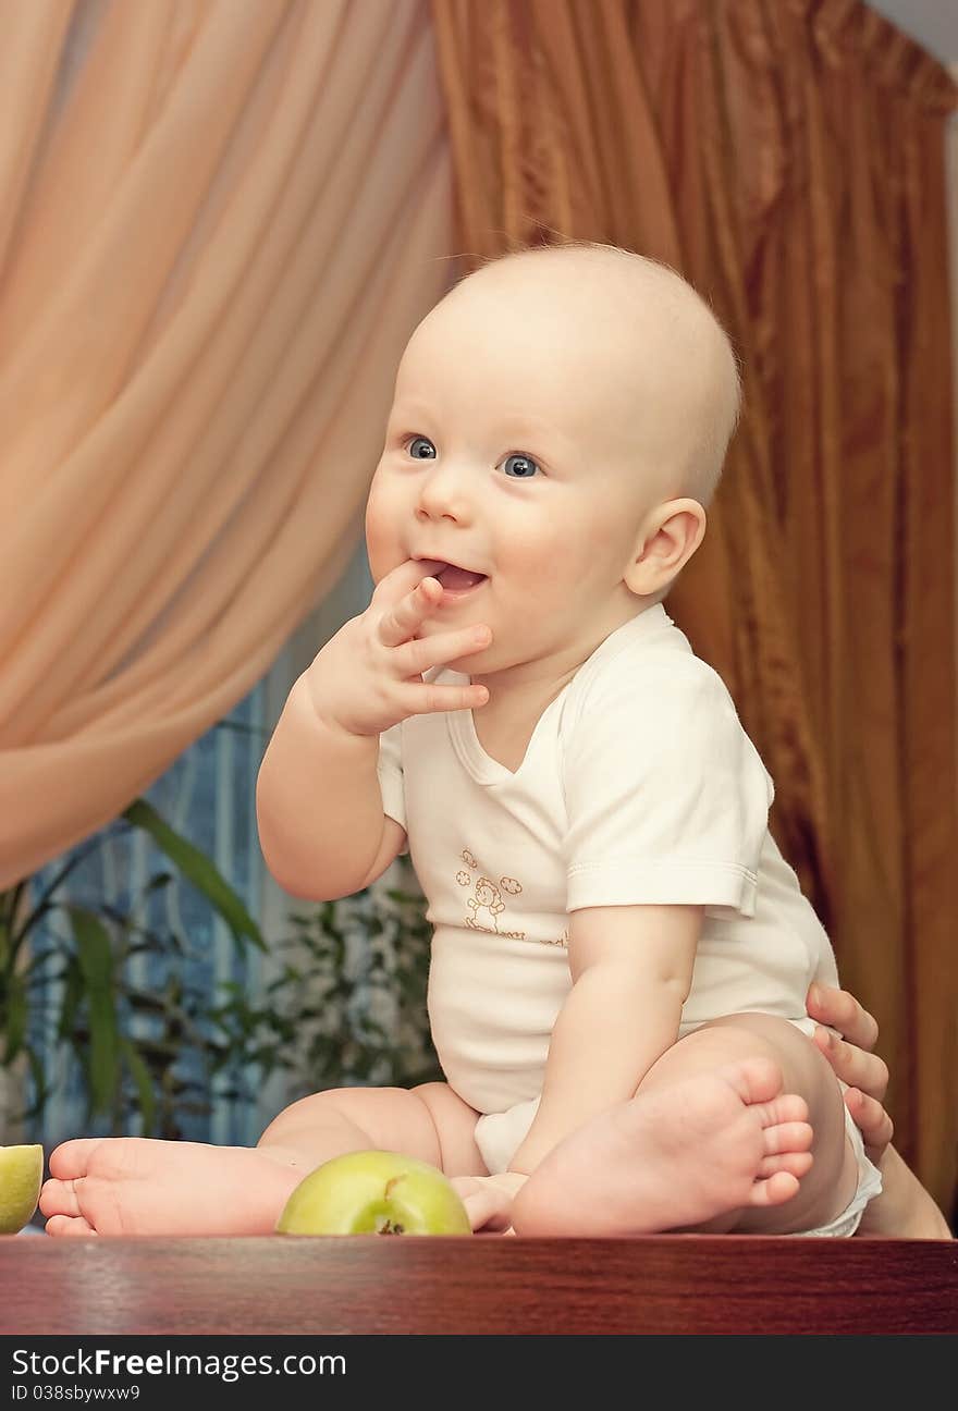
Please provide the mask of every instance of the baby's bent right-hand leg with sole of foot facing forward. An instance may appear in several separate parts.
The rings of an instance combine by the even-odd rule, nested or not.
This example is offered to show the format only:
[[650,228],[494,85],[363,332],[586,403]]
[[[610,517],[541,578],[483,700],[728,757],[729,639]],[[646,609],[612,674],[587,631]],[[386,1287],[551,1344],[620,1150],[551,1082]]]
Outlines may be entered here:
[[828,1064],[793,1024],[744,1015],[704,1026],[629,1102],[549,1153],[512,1223],[519,1235],[814,1229],[858,1181],[842,1106]]

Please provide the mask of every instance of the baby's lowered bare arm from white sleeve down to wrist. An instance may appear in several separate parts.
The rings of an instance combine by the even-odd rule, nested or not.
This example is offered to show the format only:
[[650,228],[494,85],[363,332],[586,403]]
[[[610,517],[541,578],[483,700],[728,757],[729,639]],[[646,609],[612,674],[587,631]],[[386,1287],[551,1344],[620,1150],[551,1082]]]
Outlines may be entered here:
[[542,1101],[511,1171],[530,1174],[563,1137],[635,1096],[679,1037],[701,906],[593,906],[570,914],[573,988],[552,1031]]

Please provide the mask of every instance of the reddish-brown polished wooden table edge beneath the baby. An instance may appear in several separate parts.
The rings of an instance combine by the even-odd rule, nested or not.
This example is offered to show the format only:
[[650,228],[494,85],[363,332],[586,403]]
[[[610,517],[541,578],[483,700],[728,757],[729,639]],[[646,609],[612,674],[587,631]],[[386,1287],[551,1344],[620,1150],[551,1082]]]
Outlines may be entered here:
[[0,1333],[955,1333],[958,1242],[0,1237]]

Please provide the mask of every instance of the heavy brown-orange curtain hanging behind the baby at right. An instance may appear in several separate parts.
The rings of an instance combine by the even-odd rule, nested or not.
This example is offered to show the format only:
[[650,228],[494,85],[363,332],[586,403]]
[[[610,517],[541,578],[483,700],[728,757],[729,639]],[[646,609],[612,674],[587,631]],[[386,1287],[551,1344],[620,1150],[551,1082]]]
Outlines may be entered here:
[[876,1015],[896,1144],[952,1208],[955,652],[944,124],[858,0],[432,0],[471,257],[665,260],[744,361],[669,600],[777,787],[773,827]]

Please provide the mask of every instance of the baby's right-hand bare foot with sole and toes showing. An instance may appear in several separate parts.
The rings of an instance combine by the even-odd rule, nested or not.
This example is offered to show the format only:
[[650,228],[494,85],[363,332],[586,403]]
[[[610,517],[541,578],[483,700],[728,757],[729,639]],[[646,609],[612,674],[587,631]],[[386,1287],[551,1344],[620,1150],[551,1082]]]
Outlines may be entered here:
[[811,1168],[803,1098],[768,1058],[638,1094],[566,1137],[515,1197],[518,1235],[650,1235],[782,1205]]

